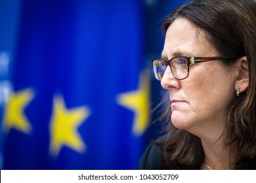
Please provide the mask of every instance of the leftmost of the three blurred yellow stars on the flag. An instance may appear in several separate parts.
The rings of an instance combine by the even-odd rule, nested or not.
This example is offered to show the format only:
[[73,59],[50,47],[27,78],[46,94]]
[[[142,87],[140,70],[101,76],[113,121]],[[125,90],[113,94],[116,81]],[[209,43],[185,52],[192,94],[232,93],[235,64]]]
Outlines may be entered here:
[[32,125],[24,114],[26,106],[33,99],[33,91],[30,89],[11,93],[11,97],[5,106],[3,130],[8,132],[11,128],[18,129],[26,134],[32,131]]

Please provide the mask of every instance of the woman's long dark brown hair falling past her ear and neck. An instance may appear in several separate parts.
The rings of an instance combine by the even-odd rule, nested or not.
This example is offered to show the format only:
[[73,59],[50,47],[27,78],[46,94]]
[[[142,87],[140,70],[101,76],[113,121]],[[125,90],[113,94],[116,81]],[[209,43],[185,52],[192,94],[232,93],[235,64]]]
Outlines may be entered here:
[[[186,18],[202,29],[222,56],[247,56],[249,87],[230,106],[223,135],[230,148],[230,167],[255,169],[256,3],[253,0],[191,1],[167,17],[163,23],[165,32],[177,18]],[[228,61],[223,63],[230,65]],[[169,120],[170,115],[169,107],[163,116]],[[171,122],[167,127],[169,132],[158,142],[165,151],[163,166],[166,169],[199,169],[204,159],[200,138],[175,128]]]

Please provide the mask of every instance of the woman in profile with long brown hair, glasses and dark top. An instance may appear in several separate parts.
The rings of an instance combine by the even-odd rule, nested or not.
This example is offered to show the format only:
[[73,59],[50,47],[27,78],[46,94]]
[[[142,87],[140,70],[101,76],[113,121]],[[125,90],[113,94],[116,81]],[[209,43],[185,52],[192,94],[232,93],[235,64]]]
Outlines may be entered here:
[[256,3],[195,0],[163,28],[152,67],[169,91],[168,133],[139,169],[256,169]]

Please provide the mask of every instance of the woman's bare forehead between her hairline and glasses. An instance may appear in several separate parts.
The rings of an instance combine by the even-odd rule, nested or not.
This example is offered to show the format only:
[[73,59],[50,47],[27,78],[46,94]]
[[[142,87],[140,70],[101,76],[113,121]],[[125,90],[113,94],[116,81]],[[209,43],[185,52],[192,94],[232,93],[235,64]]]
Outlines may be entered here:
[[162,56],[215,56],[217,51],[208,41],[205,32],[189,22],[178,18],[169,26],[165,35]]

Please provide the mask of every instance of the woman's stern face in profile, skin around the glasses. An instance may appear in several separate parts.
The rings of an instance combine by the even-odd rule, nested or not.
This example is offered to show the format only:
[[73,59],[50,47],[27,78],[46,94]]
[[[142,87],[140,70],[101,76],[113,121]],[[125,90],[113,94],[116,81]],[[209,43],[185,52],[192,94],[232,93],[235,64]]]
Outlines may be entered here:
[[[221,56],[205,33],[185,18],[178,18],[167,29],[162,58],[174,56]],[[213,60],[190,65],[188,78],[177,80],[168,66],[161,86],[169,90],[171,121],[179,129],[195,135],[222,133],[230,103],[236,97],[236,73],[232,67]]]

